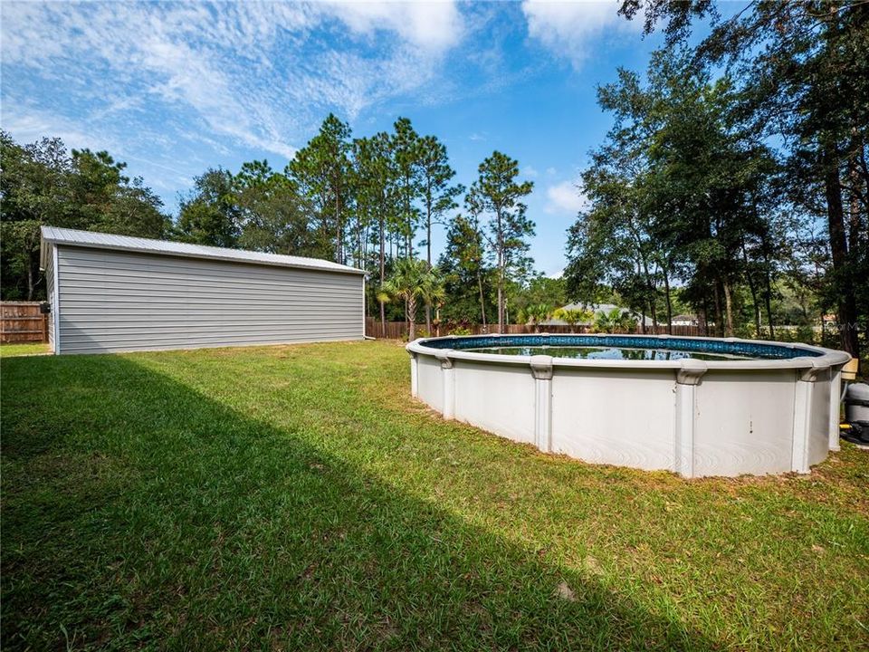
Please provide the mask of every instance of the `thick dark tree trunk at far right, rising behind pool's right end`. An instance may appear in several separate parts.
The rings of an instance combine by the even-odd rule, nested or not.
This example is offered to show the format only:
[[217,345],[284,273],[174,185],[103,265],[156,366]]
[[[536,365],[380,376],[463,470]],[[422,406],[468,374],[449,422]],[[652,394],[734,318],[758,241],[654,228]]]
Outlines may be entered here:
[[824,156],[824,191],[826,216],[830,231],[830,253],[836,273],[838,292],[837,318],[842,348],[855,358],[859,355],[857,340],[857,304],[854,277],[848,265],[848,243],[845,238],[845,209],[842,206],[842,185],[839,180],[838,157],[827,147]]

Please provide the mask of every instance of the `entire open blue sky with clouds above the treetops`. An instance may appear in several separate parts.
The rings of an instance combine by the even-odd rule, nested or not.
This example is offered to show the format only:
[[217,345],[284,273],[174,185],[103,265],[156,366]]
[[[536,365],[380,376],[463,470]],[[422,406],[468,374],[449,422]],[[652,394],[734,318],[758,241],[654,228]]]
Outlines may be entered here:
[[[329,111],[355,135],[407,116],[468,186],[493,149],[534,182],[531,254],[564,266],[578,170],[610,124],[597,84],[644,70],[616,2],[0,5],[0,121],[108,149],[175,211],[205,168],[282,169]],[[443,245],[443,230],[435,250]]]

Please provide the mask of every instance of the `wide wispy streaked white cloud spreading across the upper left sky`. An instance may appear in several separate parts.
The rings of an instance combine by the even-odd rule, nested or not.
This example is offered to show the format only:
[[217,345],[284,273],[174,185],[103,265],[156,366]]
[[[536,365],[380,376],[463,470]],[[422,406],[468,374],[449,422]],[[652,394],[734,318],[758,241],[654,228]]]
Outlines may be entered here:
[[136,139],[129,111],[138,110],[177,118],[199,131],[184,138],[217,149],[234,141],[284,158],[328,110],[354,120],[424,89],[464,34],[463,15],[445,1],[4,3],[2,11],[5,124],[24,118],[38,78],[65,94],[55,110],[39,107],[57,118],[48,133],[76,122],[80,133]]

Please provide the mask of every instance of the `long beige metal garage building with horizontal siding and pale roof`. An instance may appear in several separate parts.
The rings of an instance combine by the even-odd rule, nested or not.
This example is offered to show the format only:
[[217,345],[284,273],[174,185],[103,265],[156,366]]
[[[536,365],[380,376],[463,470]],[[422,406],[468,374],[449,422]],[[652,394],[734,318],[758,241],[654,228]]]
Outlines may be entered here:
[[55,353],[365,336],[365,274],[315,258],[43,226]]

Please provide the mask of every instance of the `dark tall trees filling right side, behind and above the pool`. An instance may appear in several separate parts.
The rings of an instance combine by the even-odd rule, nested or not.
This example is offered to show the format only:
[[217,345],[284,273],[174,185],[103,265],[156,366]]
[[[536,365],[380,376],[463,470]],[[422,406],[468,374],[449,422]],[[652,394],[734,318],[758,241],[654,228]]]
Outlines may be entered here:
[[[665,45],[645,79],[598,89],[613,114],[568,232],[568,294],[711,331],[776,336],[782,295],[836,312],[858,355],[869,327],[869,4],[760,0],[722,19],[708,0],[625,0]],[[688,45],[692,21],[711,34]],[[815,320],[816,321],[816,320]],[[780,323],[780,322],[779,322]],[[864,336],[861,338],[860,333]]]

